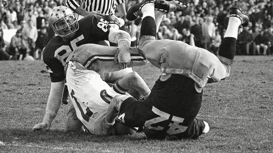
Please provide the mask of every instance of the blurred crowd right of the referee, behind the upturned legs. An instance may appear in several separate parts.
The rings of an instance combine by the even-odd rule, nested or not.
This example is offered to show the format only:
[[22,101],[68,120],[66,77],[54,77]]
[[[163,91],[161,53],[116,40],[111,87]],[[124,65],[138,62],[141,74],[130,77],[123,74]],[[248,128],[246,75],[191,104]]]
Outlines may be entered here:
[[[127,8],[138,2],[129,1]],[[218,55],[228,25],[229,8],[238,7],[249,14],[250,23],[248,27],[239,31],[236,54],[273,54],[272,0],[185,0],[184,2],[187,8],[183,11],[171,12],[164,16],[157,39],[180,40]],[[140,18],[132,25],[133,45],[137,45],[140,25]]]

